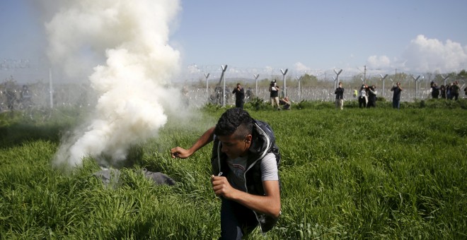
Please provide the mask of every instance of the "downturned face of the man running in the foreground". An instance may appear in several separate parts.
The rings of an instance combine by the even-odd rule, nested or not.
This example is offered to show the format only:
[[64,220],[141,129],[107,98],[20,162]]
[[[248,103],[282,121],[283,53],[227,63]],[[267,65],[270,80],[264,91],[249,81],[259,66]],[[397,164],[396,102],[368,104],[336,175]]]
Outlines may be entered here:
[[248,148],[250,148],[251,135],[245,138],[238,138],[235,133],[230,136],[219,136],[222,143],[221,151],[230,159],[236,159],[239,156],[245,157]]

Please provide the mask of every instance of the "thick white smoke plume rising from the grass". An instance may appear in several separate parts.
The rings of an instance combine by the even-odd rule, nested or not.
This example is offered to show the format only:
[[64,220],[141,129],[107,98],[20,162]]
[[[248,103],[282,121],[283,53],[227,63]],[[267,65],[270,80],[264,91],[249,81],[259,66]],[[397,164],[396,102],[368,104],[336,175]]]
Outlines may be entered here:
[[[100,96],[84,130],[62,142],[55,164],[82,164],[83,157],[125,160],[132,144],[157,135],[166,124],[164,106],[176,93],[164,89],[178,72],[180,54],[168,45],[169,25],[180,10],[176,0],[53,1],[59,6],[46,23],[55,67],[89,76]],[[86,64],[87,63],[87,64]]]

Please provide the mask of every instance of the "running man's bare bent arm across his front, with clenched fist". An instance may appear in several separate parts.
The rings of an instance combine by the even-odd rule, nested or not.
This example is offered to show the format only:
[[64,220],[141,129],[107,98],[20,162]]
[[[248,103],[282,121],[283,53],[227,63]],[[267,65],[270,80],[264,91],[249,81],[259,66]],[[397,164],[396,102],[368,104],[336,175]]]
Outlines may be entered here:
[[234,200],[256,212],[271,217],[280,215],[279,181],[263,181],[265,196],[253,195],[233,188],[225,176],[211,176],[212,189],[217,196]]

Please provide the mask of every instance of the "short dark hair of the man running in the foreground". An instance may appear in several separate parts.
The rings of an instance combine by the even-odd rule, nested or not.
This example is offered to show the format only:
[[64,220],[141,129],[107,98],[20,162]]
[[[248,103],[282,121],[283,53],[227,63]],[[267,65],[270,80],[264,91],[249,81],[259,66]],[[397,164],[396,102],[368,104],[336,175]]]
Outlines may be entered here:
[[252,131],[253,119],[248,112],[238,107],[224,112],[217,121],[216,128],[214,128],[214,134],[217,136],[230,136],[236,132],[235,137],[238,139],[245,138]]

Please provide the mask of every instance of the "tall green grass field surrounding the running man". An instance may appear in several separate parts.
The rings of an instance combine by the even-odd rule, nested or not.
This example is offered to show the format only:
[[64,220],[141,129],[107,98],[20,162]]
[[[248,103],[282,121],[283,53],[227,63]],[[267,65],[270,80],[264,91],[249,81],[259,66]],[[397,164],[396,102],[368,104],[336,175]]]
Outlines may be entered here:
[[[282,152],[282,216],[250,239],[466,239],[467,110],[438,105],[249,109],[274,128]],[[57,109],[40,122],[1,114],[0,239],[217,239],[212,144],[186,160],[169,150],[188,148],[222,112],[205,107],[183,125],[169,116],[158,138],[132,146],[113,188],[93,176],[92,158],[73,172],[52,167],[82,113]],[[155,186],[143,167],[177,186]]]

